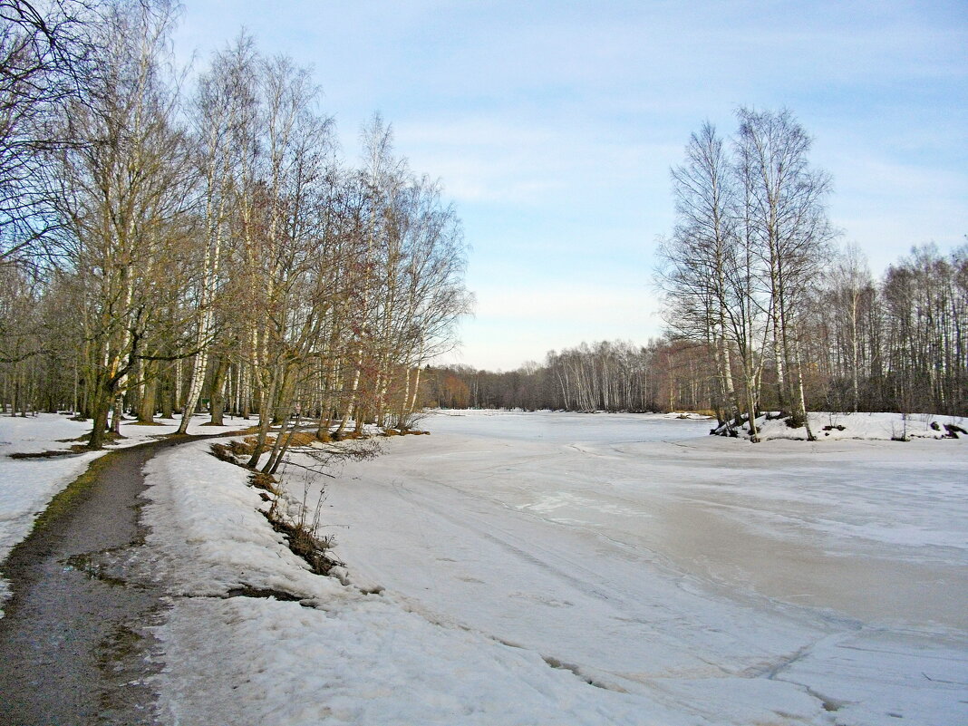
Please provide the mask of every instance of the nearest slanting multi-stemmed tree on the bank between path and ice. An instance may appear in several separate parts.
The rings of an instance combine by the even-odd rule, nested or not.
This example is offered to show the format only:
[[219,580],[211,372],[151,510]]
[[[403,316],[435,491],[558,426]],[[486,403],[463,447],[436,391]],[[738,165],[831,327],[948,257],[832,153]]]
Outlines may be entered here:
[[[246,187],[242,265],[258,315],[251,329],[260,447],[271,422],[285,422],[291,412],[293,377],[313,353],[333,299],[313,275],[325,219],[331,122],[315,110],[318,88],[309,72],[287,58],[263,61],[259,81],[264,155],[255,183]],[[256,466],[257,454],[250,464]],[[269,469],[274,464],[270,459]]]

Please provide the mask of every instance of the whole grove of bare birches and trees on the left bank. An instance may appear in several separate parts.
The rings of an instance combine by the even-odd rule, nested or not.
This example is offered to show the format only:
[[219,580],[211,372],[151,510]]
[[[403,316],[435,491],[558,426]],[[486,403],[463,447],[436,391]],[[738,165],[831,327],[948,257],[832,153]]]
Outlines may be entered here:
[[126,414],[184,432],[202,406],[257,415],[259,444],[296,418],[408,427],[468,312],[467,251],[390,126],[374,115],[347,164],[311,71],[245,34],[188,88],[166,0],[0,11],[13,412],[76,410],[95,448]]

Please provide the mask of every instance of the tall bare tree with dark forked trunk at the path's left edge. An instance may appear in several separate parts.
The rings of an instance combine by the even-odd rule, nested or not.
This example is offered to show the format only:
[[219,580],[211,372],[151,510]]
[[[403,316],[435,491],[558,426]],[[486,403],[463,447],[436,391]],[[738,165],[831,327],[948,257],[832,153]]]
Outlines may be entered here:
[[107,9],[102,74],[71,113],[81,142],[60,156],[60,209],[88,308],[92,448],[103,445],[108,411],[159,333],[159,289],[193,238],[194,179],[161,66],[172,19],[162,2]]

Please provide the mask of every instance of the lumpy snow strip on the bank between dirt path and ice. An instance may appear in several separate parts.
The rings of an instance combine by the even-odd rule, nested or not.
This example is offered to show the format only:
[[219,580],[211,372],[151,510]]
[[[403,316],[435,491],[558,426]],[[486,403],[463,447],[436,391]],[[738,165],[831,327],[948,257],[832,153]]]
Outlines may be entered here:
[[[145,468],[147,543],[179,590],[157,629],[168,722],[690,723],[647,697],[577,688],[537,653],[428,620],[392,595],[312,575],[254,514],[266,504],[246,472],[207,448],[166,451]],[[240,586],[304,600],[220,597]]]

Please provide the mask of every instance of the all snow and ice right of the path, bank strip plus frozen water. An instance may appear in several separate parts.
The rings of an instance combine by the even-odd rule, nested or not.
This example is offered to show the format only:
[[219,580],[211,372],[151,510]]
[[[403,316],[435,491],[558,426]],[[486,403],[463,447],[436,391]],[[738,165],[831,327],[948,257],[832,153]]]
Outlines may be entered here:
[[[968,723],[968,444],[435,415],[328,488],[344,587],[207,443],[148,467],[189,724]],[[301,602],[228,596],[287,592]],[[368,594],[380,590],[376,594]]]

